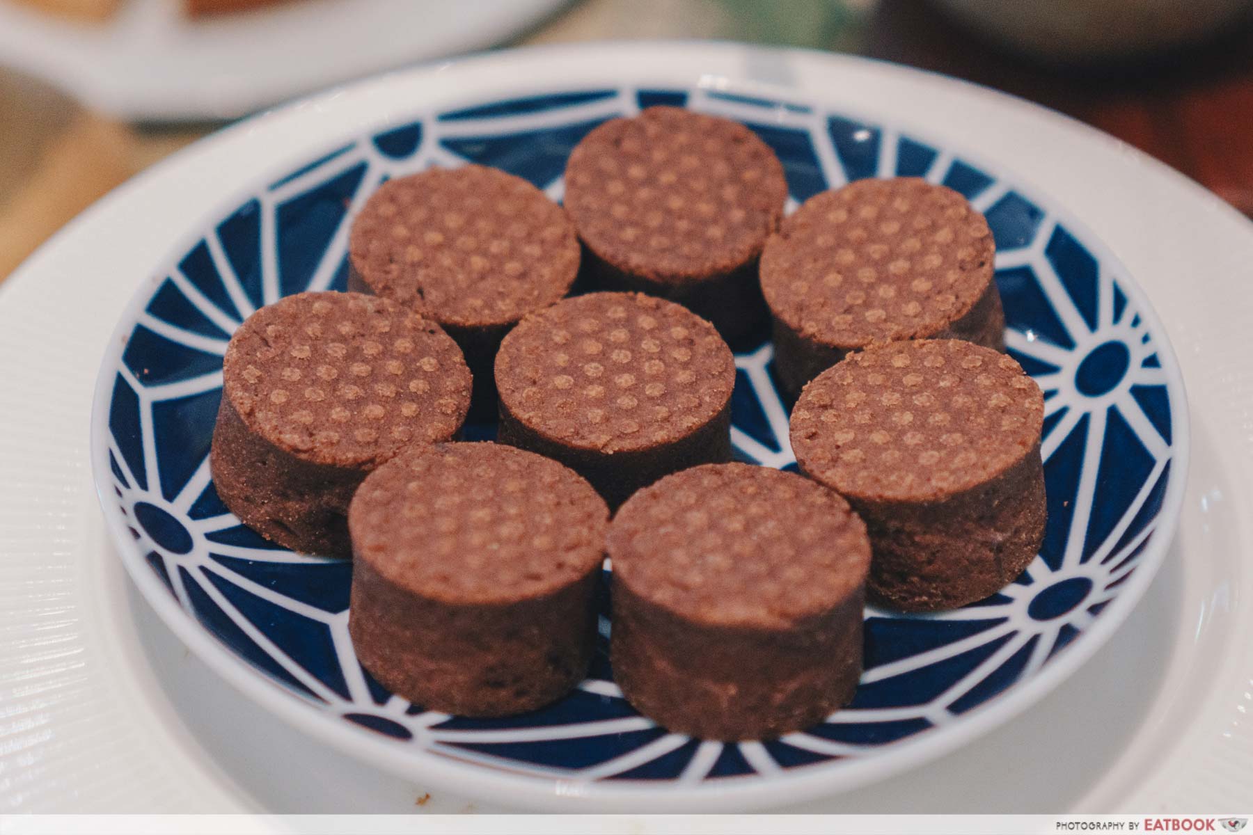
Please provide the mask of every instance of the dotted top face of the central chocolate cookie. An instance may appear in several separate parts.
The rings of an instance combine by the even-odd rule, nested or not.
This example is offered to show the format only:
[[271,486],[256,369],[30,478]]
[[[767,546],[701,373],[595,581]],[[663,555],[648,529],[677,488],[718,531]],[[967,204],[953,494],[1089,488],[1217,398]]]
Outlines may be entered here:
[[687,437],[727,407],[734,384],[736,358],[712,324],[639,293],[533,313],[496,354],[496,387],[515,418],[606,453]]

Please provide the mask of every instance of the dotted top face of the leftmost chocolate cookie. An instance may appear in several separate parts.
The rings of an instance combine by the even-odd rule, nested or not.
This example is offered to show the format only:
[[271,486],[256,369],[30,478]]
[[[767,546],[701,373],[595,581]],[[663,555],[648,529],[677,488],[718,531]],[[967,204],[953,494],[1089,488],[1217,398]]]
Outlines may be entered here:
[[437,324],[361,293],[299,293],[236,330],[222,367],[244,424],[304,461],[378,464],[447,441],[470,406],[470,369]]

